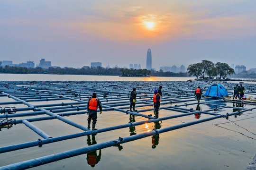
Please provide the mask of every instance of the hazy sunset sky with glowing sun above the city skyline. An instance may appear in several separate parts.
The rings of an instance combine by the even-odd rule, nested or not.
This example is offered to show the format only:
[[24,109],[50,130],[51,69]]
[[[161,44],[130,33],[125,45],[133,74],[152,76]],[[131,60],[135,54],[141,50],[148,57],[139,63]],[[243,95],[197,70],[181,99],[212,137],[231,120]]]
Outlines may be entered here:
[[0,60],[256,68],[256,0],[0,0]]

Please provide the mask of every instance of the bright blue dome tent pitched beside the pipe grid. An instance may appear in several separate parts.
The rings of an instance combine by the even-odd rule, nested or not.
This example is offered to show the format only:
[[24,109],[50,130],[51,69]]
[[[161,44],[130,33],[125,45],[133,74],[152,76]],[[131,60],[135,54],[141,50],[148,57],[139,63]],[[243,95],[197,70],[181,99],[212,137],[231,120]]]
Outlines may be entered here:
[[203,95],[210,97],[229,96],[228,91],[220,84],[211,85]]

